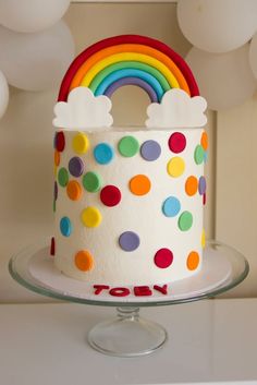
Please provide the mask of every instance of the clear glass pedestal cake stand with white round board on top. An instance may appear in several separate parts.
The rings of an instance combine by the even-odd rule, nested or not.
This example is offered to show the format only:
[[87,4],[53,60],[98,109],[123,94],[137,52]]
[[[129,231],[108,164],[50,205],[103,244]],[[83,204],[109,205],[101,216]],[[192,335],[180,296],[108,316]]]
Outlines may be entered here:
[[245,257],[231,246],[209,241],[204,251],[201,272],[194,277],[168,284],[168,294],[152,289],[150,297],[112,297],[108,290],[99,296],[91,285],[69,278],[56,269],[49,256],[49,241],[32,245],[9,263],[11,276],[22,286],[39,294],[77,303],[115,306],[117,316],[97,324],[88,334],[89,345],[106,354],[137,357],[161,348],[167,341],[166,329],[139,316],[139,308],[171,305],[219,296],[248,274]]

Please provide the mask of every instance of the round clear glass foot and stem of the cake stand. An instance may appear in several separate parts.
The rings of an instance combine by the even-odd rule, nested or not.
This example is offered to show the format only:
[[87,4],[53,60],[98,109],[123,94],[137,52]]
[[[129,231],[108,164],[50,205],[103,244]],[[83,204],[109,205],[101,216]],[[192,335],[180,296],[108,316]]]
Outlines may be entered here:
[[139,317],[139,308],[117,308],[115,318],[97,324],[88,334],[89,345],[97,351],[117,357],[149,354],[167,341],[166,329]]

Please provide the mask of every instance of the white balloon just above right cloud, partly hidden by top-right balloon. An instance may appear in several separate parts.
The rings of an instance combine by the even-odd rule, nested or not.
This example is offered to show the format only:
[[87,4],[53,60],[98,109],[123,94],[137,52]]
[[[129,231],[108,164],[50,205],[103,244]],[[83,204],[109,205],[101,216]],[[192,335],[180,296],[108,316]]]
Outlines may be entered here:
[[248,53],[248,44],[219,55],[196,47],[191,49],[186,61],[210,109],[238,106],[254,94],[256,80],[249,67]]

